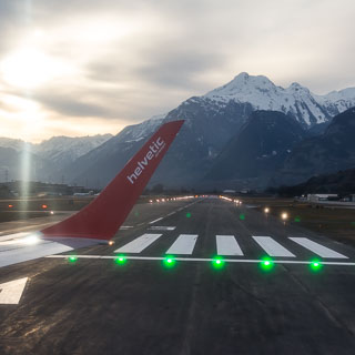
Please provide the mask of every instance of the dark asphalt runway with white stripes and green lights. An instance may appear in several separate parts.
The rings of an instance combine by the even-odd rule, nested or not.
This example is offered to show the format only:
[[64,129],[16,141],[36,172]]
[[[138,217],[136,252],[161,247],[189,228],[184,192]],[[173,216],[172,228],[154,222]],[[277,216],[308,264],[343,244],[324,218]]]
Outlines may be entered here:
[[351,246],[220,199],[138,204],[114,240],[0,268],[28,277],[0,354],[355,353]]

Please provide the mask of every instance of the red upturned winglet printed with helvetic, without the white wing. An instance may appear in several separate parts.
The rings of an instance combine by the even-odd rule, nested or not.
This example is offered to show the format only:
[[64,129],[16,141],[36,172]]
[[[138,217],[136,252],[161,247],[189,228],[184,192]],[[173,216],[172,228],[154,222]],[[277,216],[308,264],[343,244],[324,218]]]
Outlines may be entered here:
[[141,195],[184,121],[163,124],[87,207],[41,231],[44,237],[110,240]]

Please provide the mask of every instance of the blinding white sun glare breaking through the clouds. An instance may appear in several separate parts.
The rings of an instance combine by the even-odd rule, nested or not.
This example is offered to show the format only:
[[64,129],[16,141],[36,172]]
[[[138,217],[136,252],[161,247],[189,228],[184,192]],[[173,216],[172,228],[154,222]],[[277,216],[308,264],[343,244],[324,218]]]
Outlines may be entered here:
[[23,48],[9,54],[0,68],[7,83],[24,89],[41,85],[69,70],[64,63],[32,48]]

